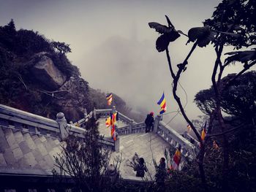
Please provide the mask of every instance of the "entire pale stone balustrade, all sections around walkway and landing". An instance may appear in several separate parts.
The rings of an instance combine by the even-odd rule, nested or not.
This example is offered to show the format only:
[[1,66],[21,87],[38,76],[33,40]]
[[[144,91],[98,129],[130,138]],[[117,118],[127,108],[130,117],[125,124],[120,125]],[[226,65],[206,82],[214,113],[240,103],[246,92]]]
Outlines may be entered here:
[[[60,140],[67,137],[69,131],[71,131],[72,134],[75,134],[77,137],[84,138],[83,132],[85,131],[85,129],[78,126],[83,126],[83,124],[86,123],[86,121],[93,115],[108,117],[110,115],[110,112],[116,112],[116,108],[106,110],[94,110],[88,115],[86,112],[85,118],[78,120],[77,123],[68,124],[62,112],[59,112],[56,115],[56,120],[51,120],[39,115],[34,115],[29,112],[24,112],[22,110],[17,110],[15,108],[7,107],[3,104],[0,104],[0,124],[1,126],[16,128],[22,131],[32,132],[34,134],[42,134],[48,137],[56,137]],[[127,116],[121,114],[120,112],[118,113],[118,115],[119,120],[127,123],[127,126],[116,129],[116,132],[119,136],[145,132],[145,123],[135,123],[134,120],[127,118]],[[155,118],[154,132],[158,134],[159,137],[162,137],[162,139],[165,139],[165,141],[168,142],[171,146],[178,147],[180,145],[182,155],[188,156],[189,158],[195,158],[195,155],[197,153],[196,141],[195,145],[193,145],[187,139],[182,137],[181,134],[178,134],[177,131],[173,130],[172,128],[170,128],[170,126],[165,124],[162,121],[161,116],[157,116]],[[186,135],[186,137],[188,136]],[[119,139],[114,142],[111,138],[102,137],[102,139],[99,139],[99,142],[108,147],[111,147],[113,150],[119,150]]]

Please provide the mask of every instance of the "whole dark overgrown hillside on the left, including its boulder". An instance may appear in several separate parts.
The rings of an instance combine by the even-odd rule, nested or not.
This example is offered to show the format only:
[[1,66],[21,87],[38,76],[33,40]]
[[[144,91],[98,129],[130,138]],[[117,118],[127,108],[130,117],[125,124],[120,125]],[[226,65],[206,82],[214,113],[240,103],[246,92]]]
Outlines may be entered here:
[[[83,118],[84,109],[110,108],[105,93],[89,87],[77,66],[70,63],[69,45],[46,39],[38,32],[16,30],[13,20],[0,26],[0,102],[11,107],[56,118],[64,112],[67,120]],[[123,99],[113,94],[118,111],[132,114]]]

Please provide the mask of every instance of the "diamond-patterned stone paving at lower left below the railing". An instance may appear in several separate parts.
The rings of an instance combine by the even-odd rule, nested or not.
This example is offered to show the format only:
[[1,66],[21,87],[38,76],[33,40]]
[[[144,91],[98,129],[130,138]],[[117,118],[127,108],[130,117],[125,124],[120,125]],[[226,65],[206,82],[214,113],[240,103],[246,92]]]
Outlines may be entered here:
[[1,173],[51,174],[61,149],[58,138],[0,125]]

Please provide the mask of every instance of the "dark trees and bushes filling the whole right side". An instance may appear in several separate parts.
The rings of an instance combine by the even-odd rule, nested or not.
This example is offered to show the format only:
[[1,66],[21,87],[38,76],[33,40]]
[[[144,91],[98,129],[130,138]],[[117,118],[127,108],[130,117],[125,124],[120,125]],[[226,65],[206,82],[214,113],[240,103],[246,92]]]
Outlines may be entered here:
[[[197,155],[197,162],[193,162],[194,164],[190,164],[190,166],[185,165],[182,171],[177,174],[176,172],[171,173],[169,180],[167,180],[168,187],[165,185],[168,191],[222,191],[225,189],[225,191],[255,191],[255,174],[248,171],[255,168],[255,155],[253,155],[255,154],[255,139],[252,137],[255,135],[255,130],[252,129],[252,125],[255,127],[256,91],[255,77],[251,78],[255,76],[255,72],[244,74],[246,70],[256,64],[255,47],[252,50],[227,53],[230,56],[224,64],[222,63],[224,46],[232,45],[236,49],[255,46],[255,5],[255,0],[223,0],[214,11],[212,18],[204,22],[203,27],[191,28],[188,35],[184,34],[189,38],[188,42],[195,43],[184,61],[177,65],[178,70],[171,63],[168,51],[170,40],[166,35],[169,28],[174,29],[174,26],[168,18],[168,27],[159,23],[149,23],[151,28],[162,33],[162,36],[157,39],[157,50],[159,52],[166,50],[170,74],[173,77],[173,96],[187,123],[192,126],[201,146],[200,153]],[[183,34],[181,31],[177,32]],[[209,129],[211,129],[211,133],[209,132],[206,139],[202,141],[195,125],[187,117],[181,99],[177,95],[177,87],[181,72],[185,72],[187,69],[188,60],[195,47],[205,47],[210,42],[214,44],[216,53],[211,76],[213,85],[210,89],[200,91],[195,96],[197,106],[210,116]],[[244,69],[241,69],[238,74],[230,74],[222,78],[226,67],[236,61],[243,63]],[[234,123],[227,123],[229,120],[223,118],[222,112],[240,119],[238,120],[240,126],[230,128],[234,126]],[[248,124],[241,126],[244,123]],[[237,128],[240,128],[239,131]],[[219,130],[220,134],[211,135],[216,129]],[[234,132],[235,130],[237,132]],[[232,134],[231,131],[233,131]],[[209,144],[212,142],[211,137],[214,136],[221,136],[221,139],[218,138],[221,145],[218,151],[213,150]],[[236,145],[242,143],[238,141],[242,140],[243,137],[247,141],[247,145],[250,144],[253,147],[247,150],[243,144],[239,147],[234,145],[230,147],[232,142]]]

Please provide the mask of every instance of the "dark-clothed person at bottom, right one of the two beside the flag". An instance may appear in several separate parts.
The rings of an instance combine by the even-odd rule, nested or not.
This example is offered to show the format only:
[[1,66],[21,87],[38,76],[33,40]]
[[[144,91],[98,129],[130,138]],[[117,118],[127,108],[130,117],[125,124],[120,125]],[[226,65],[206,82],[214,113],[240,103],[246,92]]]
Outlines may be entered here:
[[157,166],[156,182],[157,191],[165,191],[165,177],[167,176],[167,171],[165,169],[165,158],[160,158],[159,166]]

